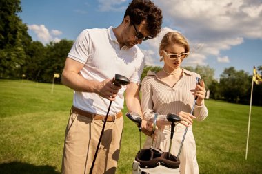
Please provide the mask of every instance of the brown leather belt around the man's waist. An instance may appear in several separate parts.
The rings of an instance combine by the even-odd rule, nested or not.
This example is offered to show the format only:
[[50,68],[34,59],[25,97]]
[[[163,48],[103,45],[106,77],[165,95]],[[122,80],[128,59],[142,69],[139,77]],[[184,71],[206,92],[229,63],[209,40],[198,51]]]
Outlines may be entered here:
[[[96,113],[90,113],[88,111],[83,111],[77,107],[72,106],[71,108],[71,113],[77,113],[81,116],[85,116],[94,120],[102,120],[103,122],[105,121],[105,116],[99,115]],[[123,116],[122,112],[117,113],[116,115],[108,115],[108,119],[106,120],[107,122],[114,122],[117,118],[121,118]]]

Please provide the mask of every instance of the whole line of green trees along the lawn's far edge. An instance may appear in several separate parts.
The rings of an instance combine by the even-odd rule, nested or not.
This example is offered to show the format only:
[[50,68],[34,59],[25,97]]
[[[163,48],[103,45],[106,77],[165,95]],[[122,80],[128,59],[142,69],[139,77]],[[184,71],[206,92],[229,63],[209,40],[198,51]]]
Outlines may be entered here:
[[[54,73],[61,74],[73,41],[62,39],[58,43],[43,45],[32,41],[26,24],[18,17],[21,12],[19,0],[0,2],[0,78],[26,78],[42,83],[52,83]],[[199,73],[210,90],[210,98],[234,103],[249,104],[252,76],[234,67],[225,68],[219,81],[214,79],[214,69],[196,65],[184,67]],[[161,67],[145,66],[141,78],[149,70],[157,72]],[[262,66],[258,67],[262,72]],[[61,83],[61,77],[56,78]],[[262,85],[254,85],[254,105],[262,106]]]

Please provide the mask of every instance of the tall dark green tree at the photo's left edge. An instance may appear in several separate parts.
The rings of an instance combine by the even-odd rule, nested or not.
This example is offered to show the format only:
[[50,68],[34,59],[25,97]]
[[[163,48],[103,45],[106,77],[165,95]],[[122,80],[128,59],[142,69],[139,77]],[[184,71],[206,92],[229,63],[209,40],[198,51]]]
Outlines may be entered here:
[[26,61],[26,47],[31,37],[27,26],[17,13],[21,12],[19,0],[0,1],[0,76],[21,76],[21,65]]

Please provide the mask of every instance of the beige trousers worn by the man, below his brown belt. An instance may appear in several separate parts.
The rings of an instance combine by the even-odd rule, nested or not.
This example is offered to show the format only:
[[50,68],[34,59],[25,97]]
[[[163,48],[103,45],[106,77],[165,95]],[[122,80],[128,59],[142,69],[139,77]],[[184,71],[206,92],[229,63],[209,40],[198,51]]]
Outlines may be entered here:
[[[102,128],[101,120],[92,120],[76,113],[70,114],[63,149],[63,174],[90,172]],[[115,173],[122,131],[123,117],[114,122],[106,122],[92,173]]]

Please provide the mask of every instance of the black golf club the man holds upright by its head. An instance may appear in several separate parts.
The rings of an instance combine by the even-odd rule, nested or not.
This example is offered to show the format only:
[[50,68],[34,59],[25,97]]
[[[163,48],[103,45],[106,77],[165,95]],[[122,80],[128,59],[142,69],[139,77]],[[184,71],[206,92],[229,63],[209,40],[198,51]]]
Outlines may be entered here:
[[[121,86],[121,85],[128,85],[130,83],[130,81],[128,80],[128,78],[126,78],[125,76],[122,76],[120,74],[115,74],[114,76],[114,85],[116,86]],[[99,150],[99,146],[100,146],[100,143],[101,143],[101,140],[102,140],[102,136],[103,136],[103,131],[105,130],[105,124],[106,124],[106,121],[108,120],[108,113],[110,111],[110,107],[111,107],[111,104],[112,104],[112,101],[110,101],[110,104],[109,104],[109,107],[108,107],[108,112],[106,113],[106,116],[105,116],[105,121],[103,122],[103,129],[101,131],[101,135],[100,135],[100,138],[99,138],[99,142],[97,144],[97,150],[96,150],[96,153],[94,153],[94,160],[92,162],[92,166],[90,168],[90,174],[92,173],[93,171],[93,168],[94,168],[94,162],[96,161],[96,158],[97,158],[97,153],[98,153],[98,150]],[[86,166],[86,165],[85,165]]]

